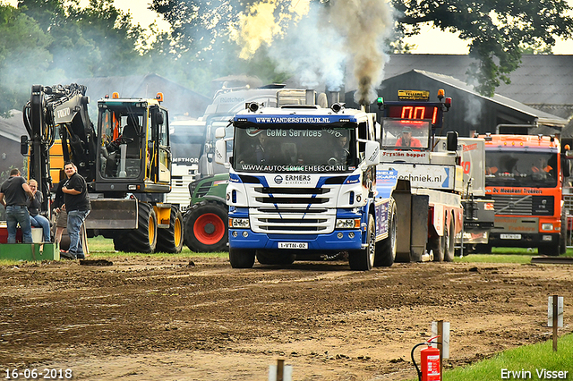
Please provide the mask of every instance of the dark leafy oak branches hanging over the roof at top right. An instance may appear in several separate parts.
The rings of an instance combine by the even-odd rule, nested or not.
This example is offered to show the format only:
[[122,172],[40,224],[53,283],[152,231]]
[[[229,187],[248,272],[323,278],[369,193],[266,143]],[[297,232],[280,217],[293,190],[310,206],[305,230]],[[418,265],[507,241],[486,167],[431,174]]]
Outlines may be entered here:
[[400,13],[398,29],[417,34],[420,25],[459,32],[469,42],[469,55],[477,60],[468,69],[475,89],[492,96],[500,80],[521,63],[523,47],[546,50],[555,38],[573,36],[572,8],[566,0],[391,0]]

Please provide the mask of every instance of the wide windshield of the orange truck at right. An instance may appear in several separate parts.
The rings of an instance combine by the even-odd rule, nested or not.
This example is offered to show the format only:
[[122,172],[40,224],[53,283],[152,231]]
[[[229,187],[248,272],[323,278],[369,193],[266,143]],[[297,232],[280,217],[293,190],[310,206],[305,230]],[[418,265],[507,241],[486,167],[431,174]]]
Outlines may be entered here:
[[546,152],[486,151],[485,185],[554,188],[557,154]]

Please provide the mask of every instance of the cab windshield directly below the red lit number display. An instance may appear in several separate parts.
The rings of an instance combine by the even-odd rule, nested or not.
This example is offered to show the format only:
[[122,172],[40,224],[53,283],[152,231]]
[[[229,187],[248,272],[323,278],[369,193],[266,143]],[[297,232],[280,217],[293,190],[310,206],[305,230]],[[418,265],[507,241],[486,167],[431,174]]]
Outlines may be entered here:
[[382,120],[381,147],[419,149],[429,147],[431,122],[404,119]]

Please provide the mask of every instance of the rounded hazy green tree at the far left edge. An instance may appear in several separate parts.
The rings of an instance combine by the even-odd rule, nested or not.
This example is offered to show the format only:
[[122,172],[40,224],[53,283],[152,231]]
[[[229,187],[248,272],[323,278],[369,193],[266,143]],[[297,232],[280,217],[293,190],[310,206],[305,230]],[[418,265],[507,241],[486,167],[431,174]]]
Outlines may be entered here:
[[30,99],[31,82],[45,78],[51,39],[38,22],[5,4],[0,4],[0,36],[0,116],[7,117]]

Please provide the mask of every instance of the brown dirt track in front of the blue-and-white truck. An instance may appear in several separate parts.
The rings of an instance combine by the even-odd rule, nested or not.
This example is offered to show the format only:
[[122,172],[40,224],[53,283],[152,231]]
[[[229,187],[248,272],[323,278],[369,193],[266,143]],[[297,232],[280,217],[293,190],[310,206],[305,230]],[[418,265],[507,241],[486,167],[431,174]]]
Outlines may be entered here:
[[[224,258],[110,258],[0,267],[0,366],[85,380],[414,378],[410,350],[451,324],[447,367],[550,337],[547,296],[573,301],[573,267],[346,262],[235,270]],[[572,330],[566,313],[565,328]]]

